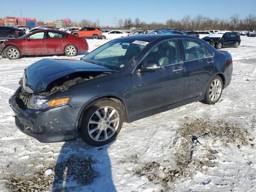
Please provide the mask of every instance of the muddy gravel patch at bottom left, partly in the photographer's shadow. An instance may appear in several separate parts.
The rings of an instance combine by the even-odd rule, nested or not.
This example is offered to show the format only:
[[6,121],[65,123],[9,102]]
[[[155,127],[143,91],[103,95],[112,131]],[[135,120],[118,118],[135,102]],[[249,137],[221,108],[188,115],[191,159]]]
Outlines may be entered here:
[[58,162],[56,165],[40,168],[33,178],[22,178],[11,176],[6,187],[12,192],[40,192],[51,190],[54,187],[58,191],[65,191],[63,182],[76,181],[79,184],[90,184],[96,177],[96,172],[92,168],[93,160],[72,156],[66,161]]

